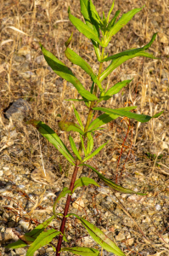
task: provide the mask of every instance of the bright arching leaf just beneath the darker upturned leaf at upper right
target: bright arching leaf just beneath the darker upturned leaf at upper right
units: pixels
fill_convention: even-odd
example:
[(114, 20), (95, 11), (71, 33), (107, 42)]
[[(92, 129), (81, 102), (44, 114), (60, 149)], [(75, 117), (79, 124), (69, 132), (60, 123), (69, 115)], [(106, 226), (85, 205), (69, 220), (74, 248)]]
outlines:
[(116, 67), (119, 67), (125, 61), (138, 56), (148, 57), (151, 59), (158, 59), (154, 55), (151, 55), (146, 51), (140, 51), (134, 55), (125, 55), (125, 56), (119, 57), (118, 59), (111, 61), (110, 65), (101, 74), (99, 81), (102, 82), (113, 70), (115, 70)]

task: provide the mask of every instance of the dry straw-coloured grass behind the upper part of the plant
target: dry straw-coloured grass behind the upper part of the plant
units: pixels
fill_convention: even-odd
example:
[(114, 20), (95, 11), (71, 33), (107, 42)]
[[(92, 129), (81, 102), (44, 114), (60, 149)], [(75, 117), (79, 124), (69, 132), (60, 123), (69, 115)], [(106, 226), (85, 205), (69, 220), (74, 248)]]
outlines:
[[(102, 10), (105, 14), (108, 13), (110, 1), (99, 0), (93, 1), (93, 3), (96, 4), (100, 15)], [(143, 11), (134, 16), (128, 25), (115, 35), (107, 52), (112, 55), (132, 47), (141, 47), (149, 42), (154, 32), (159, 32), (149, 52), (160, 57), (161, 60), (139, 57), (116, 68), (104, 86), (108, 84), (110, 87), (121, 80), (134, 79), (127, 88), (123, 89), (122, 94), (119, 93), (105, 106), (107, 108), (122, 108), (136, 105), (138, 106), (137, 113), (154, 115), (164, 110), (164, 114), (159, 119), (151, 119), (148, 124), (140, 125), (131, 120), (132, 130), (128, 134), (126, 119), (117, 119), (107, 125), (105, 131), (96, 134), (96, 146), (108, 138), (110, 138), (110, 144), (104, 152), (99, 154), (97, 159), (94, 159), (94, 162), (103, 171), (108, 164), (109, 172), (114, 179), (118, 173), (119, 182), (122, 182), (122, 178), (126, 177), (124, 164), (127, 168), (131, 162), (133, 163), (139, 158), (144, 168), (139, 166), (138, 169), (149, 177), (149, 182), (153, 183), (152, 174), (163, 172), (160, 169), (156, 170), (155, 161), (162, 154), (163, 162), (161, 164), (166, 165), (169, 156), (168, 0), (118, 0), (115, 1), (115, 10), (121, 9), (122, 14), (130, 9), (140, 8), (144, 4)], [(70, 37), (71, 32), (74, 32), (70, 47), (81, 55), (96, 72), (98, 70), (99, 63), (96, 61), (90, 42), (68, 20), (67, 9), (69, 6), (72, 15), (79, 18), (79, 1), (23, 0), (19, 2), (6, 0), (2, 1), (0, 7), (0, 122), (2, 127), (5, 127), (6, 131), (10, 131), (11, 126), (8, 119), (4, 118), (3, 113), (11, 102), (24, 98), (30, 102), (32, 108), (30, 115), (25, 120), (34, 118), (47, 123), (60, 134), (68, 147), (66, 134), (59, 131), (58, 120), (60, 115), (63, 117), (65, 114), (68, 119), (75, 119), (71, 102), (65, 102), (65, 99), (76, 98), (78, 95), (70, 84), (62, 81), (60, 83), (59, 77), (48, 68), (42, 57), (38, 41), (56, 55), (59, 60), (64, 61), (65, 65), (69, 66), (76, 77), (82, 81), (82, 84), (87, 89), (89, 88), (91, 84), (89, 77), (82, 72), (80, 67), (70, 64), (64, 55), (64, 43)], [(82, 113), (82, 121), (85, 123), (87, 108), (76, 102), (74, 105), (79, 113)], [(42, 137), (39, 139), (33, 128), (25, 127), (19, 123), (14, 123), (14, 125), (17, 132), (20, 132), (20, 141), (7, 143), (13, 140), (7, 137), (5, 141), (7, 147), (4, 147), (4, 142), (1, 144), (2, 157), (7, 154), (5, 151), (7, 150), (13, 165), (28, 166), (33, 169), (37, 162), (42, 165), (42, 156), (46, 170), (47, 166), (54, 167), (54, 171), (59, 175), (60, 164), (63, 171), (67, 172), (69, 168), (65, 159), (55, 152), (45, 139)], [(3, 133), (1, 139), (3, 139)], [(75, 140), (76, 143), (79, 142), (78, 137), (75, 137)], [(18, 148), (18, 152), (22, 151), (21, 156), (17, 154), (16, 148)], [(150, 168), (146, 166), (145, 153), (155, 154), (155, 159), (152, 162), (148, 160)], [(127, 160), (125, 161), (125, 159)], [(1, 161), (5, 163), (5, 158), (2, 158)], [(135, 162), (134, 165), (138, 166), (139, 163)], [(166, 173), (163, 172), (162, 177), (167, 179), (169, 172), (167, 169), (165, 170)], [(166, 255), (162, 253), (161, 251), (161, 256)]]

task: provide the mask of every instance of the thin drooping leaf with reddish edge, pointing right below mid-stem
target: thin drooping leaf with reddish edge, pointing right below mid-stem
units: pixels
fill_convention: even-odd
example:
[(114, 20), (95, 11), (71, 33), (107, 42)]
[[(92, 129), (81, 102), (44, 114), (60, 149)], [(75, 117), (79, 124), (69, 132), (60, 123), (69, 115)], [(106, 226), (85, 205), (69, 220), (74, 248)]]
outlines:
[(96, 172), (99, 176), (99, 178), (101, 180), (104, 181), (105, 184), (107, 184), (108, 186), (110, 186), (111, 189), (115, 189), (116, 191), (119, 191), (121, 193), (125, 193), (125, 194), (137, 194), (137, 195), (146, 195), (146, 194), (143, 194), (143, 193), (139, 193), (139, 192), (135, 192), (135, 191), (132, 191), (131, 189), (125, 189), (117, 184), (115, 184), (114, 182), (112, 182), (109, 178), (107, 177), (104, 177), (104, 175), (102, 175), (100, 172), (98, 172), (95, 168), (93, 168), (93, 166), (89, 166), (89, 165), (83, 165), (83, 166), (87, 166), (89, 167), (90, 169), (92, 169), (94, 172)]

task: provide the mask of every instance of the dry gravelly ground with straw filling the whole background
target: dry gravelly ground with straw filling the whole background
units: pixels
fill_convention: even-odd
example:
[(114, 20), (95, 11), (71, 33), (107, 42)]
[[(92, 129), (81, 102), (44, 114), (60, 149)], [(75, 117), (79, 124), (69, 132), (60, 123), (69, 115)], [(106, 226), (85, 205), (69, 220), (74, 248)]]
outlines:
[[(110, 9), (110, 2), (93, 1), (101, 15)], [(149, 52), (160, 60), (138, 57), (115, 69), (106, 81), (115, 84), (132, 79), (127, 88), (104, 105), (107, 108), (138, 106), (137, 113), (164, 113), (149, 123), (138, 124), (116, 119), (95, 134), (95, 148), (110, 143), (88, 164), (127, 189), (147, 193), (146, 196), (126, 195), (113, 191), (87, 167), (78, 177), (92, 177), (100, 187), (76, 189), (70, 212), (87, 218), (121, 247), (126, 254), (142, 256), (169, 255), (169, 29), (168, 0), (147, 1), (145, 8), (121, 29), (107, 49), (109, 55), (147, 44), (154, 32), (159, 32)], [(115, 11), (121, 14), (140, 8), (144, 1), (115, 1)], [(69, 66), (88, 89), (90, 79), (79, 67), (70, 65), (64, 55), (65, 41), (74, 32), (71, 49), (95, 69), (92, 46), (70, 24), (67, 9), (79, 18), (79, 1), (9, 1), (1, 6), (0, 44), (0, 248), (2, 255), (25, 255), (27, 247), (8, 249), (25, 231), (32, 230), (53, 214), (53, 203), (59, 191), (69, 187), (73, 169), (64, 157), (47, 143), (35, 128), (25, 125), (29, 119), (40, 119), (56, 131), (70, 148), (68, 134), (59, 131), (58, 121), (67, 115), (75, 120), (71, 102), (76, 97), (70, 83), (52, 72), (43, 58), (38, 41)], [(9, 27), (10, 26), (10, 27)], [(11, 28), (13, 26), (13, 29)], [(14, 30), (15, 28), (27, 35)], [(85, 123), (87, 108), (74, 104)], [(74, 137), (79, 143), (77, 135)], [(122, 154), (121, 154), (122, 153)], [(43, 164), (42, 164), (43, 163)], [(47, 172), (44, 177), (43, 167)], [(57, 212), (65, 208), (65, 198), (59, 201)], [(61, 218), (53, 227), (59, 230)], [(94, 247), (101, 251), (87, 231), (77, 221), (67, 221), (65, 247)], [(53, 241), (55, 244), (57, 240)], [(42, 247), (35, 255), (54, 255), (51, 247)], [(62, 253), (70, 255), (70, 253)], [(72, 254), (71, 254), (72, 255)], [(102, 255), (113, 253), (102, 252)], [(128, 255), (128, 254), (127, 254)]]

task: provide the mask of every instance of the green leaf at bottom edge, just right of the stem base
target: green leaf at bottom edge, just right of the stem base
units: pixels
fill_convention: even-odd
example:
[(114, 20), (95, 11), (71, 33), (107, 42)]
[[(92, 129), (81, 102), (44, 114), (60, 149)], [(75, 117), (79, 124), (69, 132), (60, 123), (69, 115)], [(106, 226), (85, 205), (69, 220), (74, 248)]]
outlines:
[(61, 252), (68, 251), (76, 255), (82, 256), (99, 256), (99, 251), (88, 247), (65, 247), (61, 249)]

